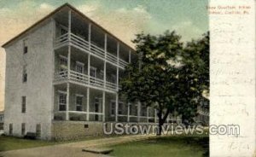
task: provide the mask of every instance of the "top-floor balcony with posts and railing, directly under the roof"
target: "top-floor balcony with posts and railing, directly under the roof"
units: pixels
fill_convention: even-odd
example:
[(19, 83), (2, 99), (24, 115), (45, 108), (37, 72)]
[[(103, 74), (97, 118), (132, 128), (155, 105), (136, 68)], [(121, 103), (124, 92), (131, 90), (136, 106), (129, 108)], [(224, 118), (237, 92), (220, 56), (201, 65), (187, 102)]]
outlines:
[(121, 69), (137, 61), (130, 46), (83, 15), (63, 9), (55, 14), (54, 20), (55, 49), (71, 45)]

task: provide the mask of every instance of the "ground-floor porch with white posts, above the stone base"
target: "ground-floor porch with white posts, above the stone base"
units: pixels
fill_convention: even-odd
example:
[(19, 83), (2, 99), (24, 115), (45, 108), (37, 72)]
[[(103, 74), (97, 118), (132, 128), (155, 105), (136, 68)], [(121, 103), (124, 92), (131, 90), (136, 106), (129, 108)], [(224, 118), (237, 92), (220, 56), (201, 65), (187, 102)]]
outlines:
[[(53, 119), (56, 121), (158, 122), (154, 108), (128, 103), (116, 93), (78, 84), (55, 85), (54, 102)], [(170, 114), (166, 122), (176, 120)]]

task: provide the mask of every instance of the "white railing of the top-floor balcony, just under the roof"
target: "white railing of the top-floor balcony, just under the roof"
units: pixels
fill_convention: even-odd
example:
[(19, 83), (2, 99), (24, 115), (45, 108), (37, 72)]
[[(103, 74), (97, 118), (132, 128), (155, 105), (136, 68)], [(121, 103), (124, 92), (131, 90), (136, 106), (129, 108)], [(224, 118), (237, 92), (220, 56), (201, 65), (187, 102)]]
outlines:
[[(70, 41), (68, 40), (68, 33), (61, 35), (55, 39), (55, 48), (60, 48), (61, 46), (65, 46), (68, 43), (72, 44), (73, 46), (77, 47), (78, 49), (82, 49), (91, 55), (95, 55), (100, 59), (104, 59), (105, 57), (105, 50), (96, 46), (96, 44), (89, 43), (88, 41), (84, 40), (84, 38), (80, 38), (79, 36), (70, 33)], [(117, 56), (106, 52), (106, 61), (116, 66), (119, 65), (121, 68), (125, 68), (128, 65), (127, 61), (117, 58)], [(118, 63), (119, 61), (119, 63)]]

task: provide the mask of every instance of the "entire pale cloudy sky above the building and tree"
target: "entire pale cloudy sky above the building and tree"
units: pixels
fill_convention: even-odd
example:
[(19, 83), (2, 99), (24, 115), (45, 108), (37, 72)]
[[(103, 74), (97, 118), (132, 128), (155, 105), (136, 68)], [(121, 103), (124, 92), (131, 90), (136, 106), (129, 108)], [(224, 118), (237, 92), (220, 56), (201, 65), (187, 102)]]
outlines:
[[(0, 44), (70, 3), (126, 44), (139, 32), (175, 30), (187, 42), (208, 31), (207, 0), (0, 0)], [(4, 107), (5, 52), (0, 48), (0, 111)]]

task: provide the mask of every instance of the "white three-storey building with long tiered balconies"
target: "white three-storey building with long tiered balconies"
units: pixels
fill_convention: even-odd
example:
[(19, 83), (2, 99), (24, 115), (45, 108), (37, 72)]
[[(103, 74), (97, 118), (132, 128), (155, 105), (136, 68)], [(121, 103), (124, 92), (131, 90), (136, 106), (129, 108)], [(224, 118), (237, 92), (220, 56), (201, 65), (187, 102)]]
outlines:
[(102, 122), (157, 121), (154, 108), (118, 95), (134, 49), (68, 3), (3, 48), (7, 135), (84, 137), (101, 134)]

